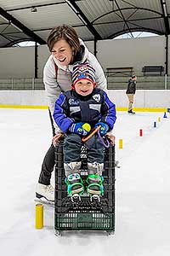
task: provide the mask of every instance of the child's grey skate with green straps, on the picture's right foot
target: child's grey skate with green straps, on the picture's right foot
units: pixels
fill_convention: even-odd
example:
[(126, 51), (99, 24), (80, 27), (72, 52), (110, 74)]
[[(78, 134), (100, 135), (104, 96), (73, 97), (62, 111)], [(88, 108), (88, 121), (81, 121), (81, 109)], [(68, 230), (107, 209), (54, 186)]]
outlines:
[(104, 194), (103, 186), (104, 177), (98, 174), (89, 174), (87, 178), (88, 183), (88, 195), (90, 201), (99, 202), (100, 196)]

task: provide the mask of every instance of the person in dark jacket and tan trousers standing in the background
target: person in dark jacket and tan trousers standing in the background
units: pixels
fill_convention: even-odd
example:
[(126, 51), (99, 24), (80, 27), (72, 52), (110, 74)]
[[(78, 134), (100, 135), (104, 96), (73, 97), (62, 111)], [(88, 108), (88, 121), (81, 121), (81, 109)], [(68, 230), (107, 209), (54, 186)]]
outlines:
[(128, 111), (127, 113), (134, 113), (133, 112), (133, 98), (134, 94), (136, 92), (136, 80), (137, 77), (133, 75), (129, 80), (128, 80), (128, 85), (127, 85), (127, 97), (128, 97)]

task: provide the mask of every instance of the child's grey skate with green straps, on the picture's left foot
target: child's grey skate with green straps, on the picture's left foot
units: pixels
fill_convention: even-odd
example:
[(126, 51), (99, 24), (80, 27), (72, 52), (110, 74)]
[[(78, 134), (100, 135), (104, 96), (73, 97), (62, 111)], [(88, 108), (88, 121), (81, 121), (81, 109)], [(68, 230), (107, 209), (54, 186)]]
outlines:
[(79, 173), (72, 173), (65, 178), (65, 183), (67, 185), (67, 193), (71, 196), (72, 202), (81, 201), (81, 195), (84, 192), (84, 186), (82, 184), (82, 177)]

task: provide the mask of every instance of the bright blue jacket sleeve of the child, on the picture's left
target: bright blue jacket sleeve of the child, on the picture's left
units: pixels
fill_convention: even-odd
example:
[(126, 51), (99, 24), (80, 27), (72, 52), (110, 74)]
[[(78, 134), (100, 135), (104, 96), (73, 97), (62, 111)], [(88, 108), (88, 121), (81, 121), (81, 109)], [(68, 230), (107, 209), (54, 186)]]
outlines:
[(63, 93), (59, 95), (59, 98), (55, 102), (53, 116), (56, 124), (64, 132), (66, 132), (73, 123), (73, 120), (69, 118), (69, 106)]

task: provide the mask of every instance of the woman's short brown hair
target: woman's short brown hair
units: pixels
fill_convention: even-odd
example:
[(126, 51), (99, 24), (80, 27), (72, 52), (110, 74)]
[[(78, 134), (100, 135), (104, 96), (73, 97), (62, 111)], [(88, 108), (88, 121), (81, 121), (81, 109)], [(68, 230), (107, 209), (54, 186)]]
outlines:
[(74, 48), (75, 54), (77, 54), (77, 51), (80, 49), (80, 42), (77, 32), (72, 26), (55, 26), (48, 36), (48, 49), (52, 51), (54, 44), (60, 39), (65, 39)]

